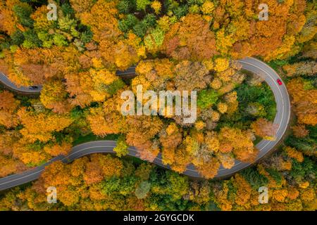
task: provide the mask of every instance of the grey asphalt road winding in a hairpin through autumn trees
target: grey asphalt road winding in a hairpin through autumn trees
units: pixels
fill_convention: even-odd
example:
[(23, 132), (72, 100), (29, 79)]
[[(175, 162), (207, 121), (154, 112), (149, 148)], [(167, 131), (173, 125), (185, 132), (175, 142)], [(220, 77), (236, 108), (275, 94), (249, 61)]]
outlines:
[[(277, 113), (275, 115), (274, 123), (278, 124), (278, 131), (275, 136), (275, 141), (262, 140), (256, 145), (256, 148), (259, 149), (259, 155), (256, 158), (257, 161), (263, 158), (263, 156), (268, 154), (271, 150), (273, 150), (273, 148), (278, 144), (280, 139), (282, 139), (282, 136), (285, 134), (288, 123), (290, 122), (290, 97), (287, 93), (285, 84), (278, 84), (277, 79), (280, 79), (278, 74), (268, 65), (266, 65), (266, 63), (263, 63), (256, 58), (244, 58), (243, 60), (238, 60), (238, 62), (241, 63), (242, 69), (253, 72), (254, 74), (259, 75), (260, 77), (265, 79), (265, 82), (271, 87), (271, 90), (273, 91), (277, 105)], [(135, 74), (135, 67), (129, 68), (126, 71), (117, 72), (117, 75), (119, 76), (133, 74)], [(39, 88), (36, 90), (30, 90), (28, 89), (28, 87), (17, 87), (12, 82), (10, 82), (10, 80), (5, 75), (1, 73), (0, 82), (2, 82), (5, 86), (8, 86), (8, 88), (13, 91), (27, 94), (37, 94), (42, 89), (42, 86), (39, 86)], [(92, 153), (114, 153), (113, 148), (115, 146), (116, 141), (92, 141), (74, 146), (67, 156), (59, 155), (42, 166), (35, 167), (20, 174), (13, 174), (1, 178), (0, 191), (12, 188), (14, 186), (19, 186), (21, 184), (26, 184), (30, 181), (38, 179), (44, 168), (52, 162), (55, 162), (56, 160), (61, 160), (62, 162), (68, 163), (84, 155), (89, 155)], [(128, 150), (128, 155), (137, 157), (137, 150), (134, 147), (130, 147), (128, 148)], [(170, 167), (163, 165), (161, 160), (161, 153), (156, 157), (153, 163), (161, 167), (170, 169)], [(240, 162), (239, 160), (236, 160), (235, 165), (231, 169), (225, 169), (221, 166), (218, 170), (216, 178), (229, 176), (231, 174), (234, 174), (235, 172), (240, 171), (241, 169), (248, 167), (249, 165), (250, 163)], [(189, 165), (187, 167), (187, 170), (183, 172), (183, 174), (195, 178), (202, 177), (194, 168), (194, 165)]]

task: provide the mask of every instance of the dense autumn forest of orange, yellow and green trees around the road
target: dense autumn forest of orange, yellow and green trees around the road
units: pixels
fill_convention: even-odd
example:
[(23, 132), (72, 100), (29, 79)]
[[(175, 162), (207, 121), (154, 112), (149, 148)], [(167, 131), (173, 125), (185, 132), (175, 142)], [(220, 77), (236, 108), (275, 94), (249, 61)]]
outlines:
[[(47, 20), (48, 3), (57, 20)], [(0, 0), (0, 71), (17, 86), (44, 85), (39, 96), (0, 87), (0, 177), (76, 143), (118, 139), (116, 156), (54, 162), (4, 193), (0, 210), (316, 210), (316, 17), (304, 0)], [(220, 165), (254, 162), (256, 143), (275, 138), (274, 96), (235, 63), (246, 56), (282, 77), (292, 122), (273, 155), (215, 181)], [(116, 76), (132, 65), (135, 78)], [(197, 121), (123, 116), (120, 94), (139, 84), (197, 91)], [(125, 157), (128, 146), (149, 162), (162, 153), (173, 171)], [(180, 174), (190, 163), (206, 180)], [(48, 186), (57, 205), (46, 203)], [(260, 186), (268, 204), (259, 204)]]

